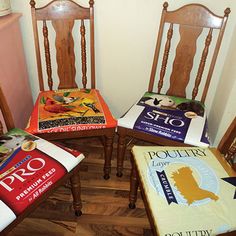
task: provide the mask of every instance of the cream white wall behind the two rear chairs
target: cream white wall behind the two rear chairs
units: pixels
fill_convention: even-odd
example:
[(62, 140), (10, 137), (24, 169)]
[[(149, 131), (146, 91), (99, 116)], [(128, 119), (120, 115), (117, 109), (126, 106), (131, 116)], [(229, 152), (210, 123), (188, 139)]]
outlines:
[[(49, 1), (36, 0), (36, 6), (43, 6)], [(75, 0), (75, 2), (88, 6), (88, 0)], [(231, 8), (232, 13), (206, 100), (210, 135), (216, 145), (236, 113), (233, 102), (236, 100), (236, 67), (233, 66), (236, 59), (236, 48), (233, 45), (236, 2), (231, 0), (217, 1), (217, 4), (213, 0), (168, 2), (170, 10), (197, 2), (206, 5), (217, 15), (223, 15), (226, 7)], [(32, 94), (35, 99), (38, 93), (38, 80), (29, 0), (11, 0), (11, 5), (13, 11), (23, 14), (21, 29)], [(97, 87), (117, 118), (147, 89), (162, 5), (163, 1), (160, 0), (95, 0)]]

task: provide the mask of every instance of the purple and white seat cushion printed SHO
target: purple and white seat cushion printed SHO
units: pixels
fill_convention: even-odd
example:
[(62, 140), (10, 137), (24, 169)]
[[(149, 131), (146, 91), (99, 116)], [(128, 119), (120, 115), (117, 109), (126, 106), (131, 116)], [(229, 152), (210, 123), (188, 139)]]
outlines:
[(195, 100), (146, 92), (118, 120), (118, 126), (194, 146), (209, 146), (205, 107)]

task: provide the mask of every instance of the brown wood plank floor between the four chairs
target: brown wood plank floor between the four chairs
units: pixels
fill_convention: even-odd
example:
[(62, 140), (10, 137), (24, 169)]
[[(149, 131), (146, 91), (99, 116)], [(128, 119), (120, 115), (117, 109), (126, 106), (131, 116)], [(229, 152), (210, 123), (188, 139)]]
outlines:
[(60, 187), (34, 213), (17, 225), (9, 235), (146, 235), (151, 236), (143, 201), (139, 195), (136, 209), (128, 208), (130, 152), (126, 154), (122, 178), (116, 177), (116, 143), (112, 173), (103, 179), (103, 147), (99, 139), (67, 142), (86, 155), (81, 163), (83, 215), (72, 210), (69, 186)]

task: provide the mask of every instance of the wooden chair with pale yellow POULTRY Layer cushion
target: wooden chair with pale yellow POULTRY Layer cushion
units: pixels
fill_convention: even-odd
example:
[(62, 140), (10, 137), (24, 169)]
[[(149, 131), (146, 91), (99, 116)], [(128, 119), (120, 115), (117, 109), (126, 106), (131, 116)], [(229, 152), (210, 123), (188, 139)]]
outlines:
[(134, 146), (132, 153), (129, 207), (140, 186), (155, 235), (235, 235), (236, 118), (218, 149)]

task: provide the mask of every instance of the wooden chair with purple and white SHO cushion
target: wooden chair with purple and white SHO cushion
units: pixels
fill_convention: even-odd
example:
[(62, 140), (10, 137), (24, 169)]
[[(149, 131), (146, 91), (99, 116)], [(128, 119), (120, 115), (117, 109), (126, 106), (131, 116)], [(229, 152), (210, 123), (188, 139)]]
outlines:
[(221, 17), (200, 4), (167, 8), (165, 2), (148, 91), (118, 120), (117, 176), (128, 137), (158, 145), (209, 145), (204, 102), (230, 9)]

